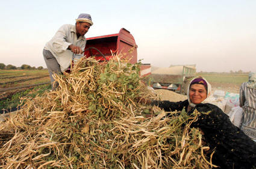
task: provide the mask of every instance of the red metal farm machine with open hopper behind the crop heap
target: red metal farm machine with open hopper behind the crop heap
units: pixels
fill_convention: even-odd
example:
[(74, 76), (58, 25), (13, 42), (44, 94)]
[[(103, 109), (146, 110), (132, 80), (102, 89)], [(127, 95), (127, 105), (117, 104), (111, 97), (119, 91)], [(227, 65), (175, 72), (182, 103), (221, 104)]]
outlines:
[[(93, 49), (96, 48), (96, 49)], [(84, 55), (86, 57), (95, 56), (97, 60), (110, 60), (113, 54), (122, 52), (123, 58), (129, 60), (131, 64), (137, 63), (137, 48), (133, 35), (125, 28), (120, 29), (118, 34), (102, 35), (98, 37), (87, 38)], [(102, 56), (104, 55), (105, 58)], [(140, 76), (151, 74), (151, 65), (142, 64), (140, 67)]]

